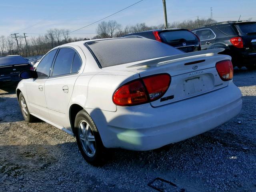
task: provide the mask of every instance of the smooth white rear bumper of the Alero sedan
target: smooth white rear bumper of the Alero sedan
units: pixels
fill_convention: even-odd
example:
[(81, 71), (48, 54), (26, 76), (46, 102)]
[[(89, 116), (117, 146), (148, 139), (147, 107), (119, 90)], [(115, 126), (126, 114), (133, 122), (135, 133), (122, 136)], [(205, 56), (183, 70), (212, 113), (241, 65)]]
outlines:
[(223, 124), (242, 108), (232, 83), (219, 90), (153, 108), (117, 107), (116, 112), (86, 109), (107, 148), (152, 150), (196, 136)]

